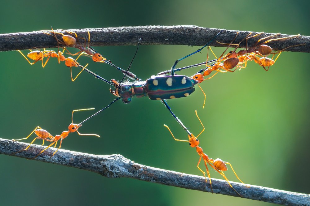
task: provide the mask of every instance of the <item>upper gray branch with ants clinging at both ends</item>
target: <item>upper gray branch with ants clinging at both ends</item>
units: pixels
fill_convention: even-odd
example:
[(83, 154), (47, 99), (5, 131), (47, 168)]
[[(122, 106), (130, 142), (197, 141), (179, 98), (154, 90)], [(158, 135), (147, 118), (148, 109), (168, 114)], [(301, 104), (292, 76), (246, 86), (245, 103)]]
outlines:
[[(56, 32), (66, 32), (55, 30)], [(86, 29), (68, 29), (67, 31), (76, 32), (79, 37), (88, 40), (88, 33), (91, 34), (91, 46), (107, 46), (107, 45), (136, 45), (138, 39), (141, 38), (140, 44), (144, 45), (205, 45), (211, 41), (221, 29), (203, 28), (193, 25), (182, 26), (136, 26), (136, 27), (120, 27), (120, 28), (86, 28)], [(230, 43), (239, 32), (234, 43), (240, 42), (246, 37), (249, 31), (224, 30), (216, 40), (222, 43)], [(258, 32), (252, 32), (257, 34)], [(249, 46), (254, 45), (259, 38), (270, 36), (273, 33), (263, 33), (258, 37), (249, 39)], [(274, 38), (280, 38), (290, 35), (277, 35)], [(82, 41), (82, 42), (81, 42)], [(81, 40), (80, 43), (84, 44)], [(288, 38), (279, 41), (271, 41), (268, 43), (274, 50), (281, 50), (288, 46), (306, 44), (304, 46), (291, 47), (287, 51), (310, 52), (310, 36), (300, 36)], [(213, 41), (211, 46), (224, 46)], [(86, 45), (87, 46), (87, 45)], [(0, 51), (16, 50), (16, 49), (35, 49), (35, 48), (51, 48), (57, 47), (55, 38), (45, 34), (43, 31), (36, 32), (20, 32), (11, 34), (0, 34)], [(242, 42), (241, 48), (246, 47), (246, 42)]]

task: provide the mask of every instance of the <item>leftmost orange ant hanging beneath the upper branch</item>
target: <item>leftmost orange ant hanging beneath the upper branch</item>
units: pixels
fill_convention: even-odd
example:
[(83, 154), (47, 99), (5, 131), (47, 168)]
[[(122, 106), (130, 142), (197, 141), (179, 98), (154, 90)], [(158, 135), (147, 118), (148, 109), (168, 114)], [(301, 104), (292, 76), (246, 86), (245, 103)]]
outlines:
[[(71, 57), (68, 57), (68, 58), (65, 58), (64, 57), (64, 50), (61, 52), (61, 51), (58, 51), (58, 53), (56, 53), (55, 51), (53, 50), (43, 50), (43, 51), (40, 51), (40, 50), (35, 50), (35, 51), (32, 51), (31, 49), (29, 49), (30, 52), (27, 54), (27, 57), (32, 59), (32, 60), (35, 60), (34, 62), (30, 62), (29, 59), (20, 51), (20, 50), (17, 50), (20, 52), (21, 55), (23, 55), (23, 57), (27, 60), (27, 62), (31, 65), (35, 64), (36, 62), (38, 61), (42, 61), (42, 67), (44, 68), (45, 65), (47, 64), (48, 60), (50, 59), (50, 57), (53, 57), (53, 58), (58, 58), (58, 62), (60, 63), (60, 61), (64, 61), (65, 65), (67, 67), (70, 67), (70, 72), (71, 72), (71, 80), (74, 82), (74, 80), (81, 74), (81, 72), (87, 67), (88, 64), (85, 65), (85, 67), (82, 67), (76, 60), (77, 59), (73, 59)], [(47, 60), (45, 61), (45, 63), (43, 62), (43, 58), (47, 57)], [(78, 75), (73, 79), (72, 77), (72, 67), (80, 67), (82, 68), (82, 70), (78, 73)]]

